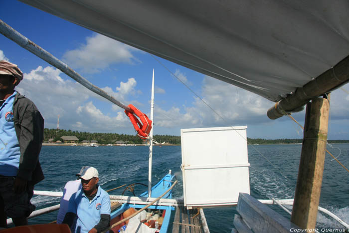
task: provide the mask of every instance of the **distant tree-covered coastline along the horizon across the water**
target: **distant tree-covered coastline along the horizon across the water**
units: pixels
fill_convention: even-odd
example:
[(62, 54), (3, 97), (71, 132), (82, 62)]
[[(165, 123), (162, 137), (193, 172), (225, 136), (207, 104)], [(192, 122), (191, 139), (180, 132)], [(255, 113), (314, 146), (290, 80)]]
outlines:
[[(117, 133), (90, 133), (79, 132), (64, 129), (44, 129), (44, 142), (61, 141), (64, 136), (75, 136), (77, 143), (82, 141), (97, 141), (99, 144), (113, 144), (117, 141), (127, 142), (129, 144), (142, 144), (143, 140), (136, 135), (117, 134)], [(180, 145), (180, 136), (173, 135), (154, 135), (154, 140), (159, 143), (166, 142), (174, 145)], [(299, 144), (303, 139), (261, 139), (247, 138), (248, 144)], [(328, 140), (329, 143), (349, 143), (349, 140)]]

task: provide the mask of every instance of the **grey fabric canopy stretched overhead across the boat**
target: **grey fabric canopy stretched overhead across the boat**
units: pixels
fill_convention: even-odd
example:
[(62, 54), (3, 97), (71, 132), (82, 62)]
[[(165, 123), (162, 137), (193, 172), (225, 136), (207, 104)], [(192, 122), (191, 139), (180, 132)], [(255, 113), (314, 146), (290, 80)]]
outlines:
[(348, 0), (21, 0), (278, 101), (349, 55)]

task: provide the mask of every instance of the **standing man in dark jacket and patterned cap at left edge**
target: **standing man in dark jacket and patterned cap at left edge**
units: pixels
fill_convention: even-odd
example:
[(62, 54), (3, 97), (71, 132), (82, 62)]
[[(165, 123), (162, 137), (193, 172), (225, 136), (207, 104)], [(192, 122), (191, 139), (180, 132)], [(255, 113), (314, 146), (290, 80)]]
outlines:
[(39, 163), (44, 120), (34, 103), (14, 87), (23, 73), (0, 60), (0, 227), (10, 217), (15, 226), (26, 225), (35, 210), (30, 203), (34, 185), (44, 176)]

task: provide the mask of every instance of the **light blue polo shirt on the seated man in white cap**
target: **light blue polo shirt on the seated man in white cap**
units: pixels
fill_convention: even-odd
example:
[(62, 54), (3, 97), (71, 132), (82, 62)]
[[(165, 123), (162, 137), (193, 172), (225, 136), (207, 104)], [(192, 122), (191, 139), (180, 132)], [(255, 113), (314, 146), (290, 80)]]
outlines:
[(96, 196), (90, 200), (83, 189), (69, 199), (68, 211), (76, 214), (76, 227), (73, 233), (88, 233), (101, 220), (101, 214), (110, 215), (110, 198), (100, 186)]

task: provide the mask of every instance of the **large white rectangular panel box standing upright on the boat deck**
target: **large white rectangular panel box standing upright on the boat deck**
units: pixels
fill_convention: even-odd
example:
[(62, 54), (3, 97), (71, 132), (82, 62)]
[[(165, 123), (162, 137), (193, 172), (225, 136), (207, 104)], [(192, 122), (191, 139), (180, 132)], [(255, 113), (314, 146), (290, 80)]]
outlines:
[(231, 206), (250, 194), (246, 129), (180, 130), (184, 206)]

